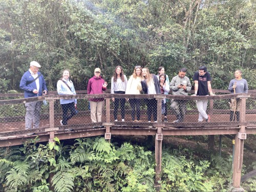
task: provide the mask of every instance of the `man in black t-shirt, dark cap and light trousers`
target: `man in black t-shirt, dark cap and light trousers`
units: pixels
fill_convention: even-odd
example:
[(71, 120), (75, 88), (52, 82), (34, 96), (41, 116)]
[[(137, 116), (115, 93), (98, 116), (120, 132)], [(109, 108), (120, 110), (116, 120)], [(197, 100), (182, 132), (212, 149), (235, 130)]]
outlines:
[[(195, 94), (192, 96), (206, 96), (208, 92), (210, 92), (210, 95), (215, 95), (211, 90), (211, 77), (206, 66), (199, 67), (199, 70), (193, 76), (193, 81), (195, 82)], [(208, 100), (197, 100), (196, 103), (199, 111), (198, 122), (202, 122), (203, 119), (205, 119), (205, 122), (210, 122), (210, 115), (206, 113)]]

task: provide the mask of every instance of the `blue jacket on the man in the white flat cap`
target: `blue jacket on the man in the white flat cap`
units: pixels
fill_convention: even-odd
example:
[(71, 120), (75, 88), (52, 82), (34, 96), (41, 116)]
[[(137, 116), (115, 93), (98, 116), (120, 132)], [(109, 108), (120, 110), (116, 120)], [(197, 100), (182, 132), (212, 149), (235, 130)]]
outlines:
[[(40, 75), (40, 72), (38, 72), (38, 76)], [(30, 71), (26, 71), (26, 73), (22, 76), (22, 80), (20, 80), (19, 88), (24, 90), (24, 97), (25, 98), (32, 98), (42, 95), (43, 90), (47, 90), (46, 87), (46, 81), (44, 79), (44, 76), (40, 76), (39, 78), (39, 91), (37, 94), (33, 93), (33, 90), (36, 89), (36, 83), (35, 81), (33, 83), (30, 83), (27, 85), (29, 81), (34, 80), (34, 78), (31, 76)], [(47, 90), (48, 91), (48, 90)]]

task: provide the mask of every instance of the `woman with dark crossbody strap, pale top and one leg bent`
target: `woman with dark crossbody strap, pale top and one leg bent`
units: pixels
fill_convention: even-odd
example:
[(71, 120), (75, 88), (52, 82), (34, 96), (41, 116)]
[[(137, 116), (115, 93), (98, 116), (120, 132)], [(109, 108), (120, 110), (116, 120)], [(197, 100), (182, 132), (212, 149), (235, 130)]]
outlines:
[[(62, 78), (57, 82), (58, 94), (76, 94), (73, 82), (69, 79), (70, 71), (63, 70)], [(76, 99), (61, 99), (60, 105), (62, 108), (62, 120), (60, 120), (60, 125), (68, 125), (68, 120), (77, 114), (76, 110)], [(70, 110), (70, 115), (68, 115), (68, 110)]]

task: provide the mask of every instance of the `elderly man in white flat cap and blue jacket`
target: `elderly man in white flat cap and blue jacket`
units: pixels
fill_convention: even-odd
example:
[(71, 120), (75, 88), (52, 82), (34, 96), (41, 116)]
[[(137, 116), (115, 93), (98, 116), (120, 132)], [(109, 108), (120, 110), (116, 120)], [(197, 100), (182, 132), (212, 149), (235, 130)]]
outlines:
[[(44, 76), (38, 71), (41, 66), (36, 61), (30, 62), (30, 68), (22, 76), (19, 87), (24, 90), (25, 98), (38, 97), (47, 94), (46, 81)], [(25, 129), (39, 128), (40, 110), (42, 102), (34, 101), (25, 104)]]

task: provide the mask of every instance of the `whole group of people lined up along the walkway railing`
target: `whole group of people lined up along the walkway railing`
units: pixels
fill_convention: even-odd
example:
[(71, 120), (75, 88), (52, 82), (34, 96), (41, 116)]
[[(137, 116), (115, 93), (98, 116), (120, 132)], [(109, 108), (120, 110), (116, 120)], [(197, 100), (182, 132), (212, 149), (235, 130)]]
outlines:
[[(24, 90), (25, 98), (38, 97), (46, 95), (48, 92), (44, 76), (38, 71), (40, 64), (36, 61), (30, 63), (30, 68), (23, 75), (20, 81), (19, 87)], [(169, 82), (168, 76), (165, 74), (164, 67), (158, 68), (158, 75), (151, 74), (149, 69), (141, 66), (135, 66), (133, 75), (126, 78), (121, 66), (116, 66), (114, 75), (111, 79), (111, 93), (112, 94), (140, 94), (143, 91), (145, 94), (169, 94), (172, 90), (174, 95), (188, 95), (191, 90), (191, 83), (188, 77), (186, 77), (186, 68), (181, 68), (177, 76), (172, 78)], [(242, 78), (242, 71), (236, 70), (234, 73), (235, 79), (232, 79), (229, 83), (228, 90), (233, 93), (247, 93), (248, 85), (247, 81)], [(195, 72), (193, 76), (195, 84), (195, 94), (191, 96), (205, 96), (215, 95), (211, 89), (211, 76), (207, 71), (206, 66), (200, 66), (199, 70)], [(88, 94), (102, 94), (106, 90), (108, 83), (101, 77), (100, 68), (95, 68), (94, 76), (89, 80), (87, 86)], [(74, 84), (70, 80), (70, 71), (63, 70), (62, 77), (57, 82), (58, 94), (70, 95), (76, 94)], [(91, 120), (93, 123), (101, 122), (102, 108), (104, 106), (104, 98), (99, 96), (90, 98)], [(121, 109), (121, 121), (125, 120), (125, 102), (129, 101), (131, 105), (131, 117), (132, 121), (140, 121), (140, 107), (141, 99), (125, 99), (124, 97), (112, 98), (114, 102), (114, 119), (118, 121), (118, 108)], [(198, 122), (210, 121), (210, 116), (207, 115), (208, 100), (197, 100), (196, 105), (199, 111)], [(60, 105), (62, 108), (62, 119), (60, 125), (68, 125), (68, 120), (78, 113), (76, 109), (76, 99), (61, 99)], [(36, 129), (39, 128), (40, 109), (42, 102), (34, 101), (25, 104), (26, 116), (25, 116), (25, 128)], [(146, 99), (147, 105), (147, 120), (151, 122), (152, 115), (153, 121), (157, 122), (157, 100), (152, 98)], [(232, 99), (230, 104), (230, 121), (234, 121), (235, 116), (239, 121), (240, 100)], [(174, 99), (171, 101), (170, 108), (174, 111), (177, 119), (174, 123), (183, 122), (186, 113), (186, 100)], [(68, 115), (68, 111), (70, 114)], [(162, 100), (162, 114), (164, 115), (164, 122), (167, 122), (167, 105), (166, 99)], [(96, 116), (97, 114), (97, 116)]]

